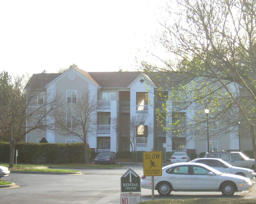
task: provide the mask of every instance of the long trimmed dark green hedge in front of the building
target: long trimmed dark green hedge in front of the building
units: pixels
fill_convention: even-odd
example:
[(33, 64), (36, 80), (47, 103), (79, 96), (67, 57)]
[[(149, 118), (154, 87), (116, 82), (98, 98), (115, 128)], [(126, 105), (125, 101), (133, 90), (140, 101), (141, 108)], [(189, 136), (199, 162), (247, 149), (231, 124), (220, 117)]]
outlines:
[[(28, 163), (83, 163), (84, 148), (82, 143), (20, 143), (16, 145), (18, 150), (17, 162)], [(9, 162), (9, 143), (0, 144), (0, 161)], [(88, 145), (88, 160), (91, 157), (91, 149)], [(15, 159), (15, 158), (14, 158)]]

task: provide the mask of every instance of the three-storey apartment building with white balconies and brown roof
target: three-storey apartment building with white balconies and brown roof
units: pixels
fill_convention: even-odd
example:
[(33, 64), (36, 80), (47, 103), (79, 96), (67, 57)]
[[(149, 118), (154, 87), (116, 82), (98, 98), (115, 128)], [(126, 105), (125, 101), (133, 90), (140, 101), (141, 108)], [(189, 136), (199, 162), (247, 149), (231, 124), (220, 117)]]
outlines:
[[(32, 83), (33, 82), (33, 83)], [(197, 140), (197, 132), (188, 130), (177, 134), (165, 131), (156, 122), (156, 108), (161, 109), (166, 100), (157, 93), (158, 87), (150, 76), (141, 72), (86, 72), (69, 68), (62, 74), (34, 74), (27, 89), (38, 89), (38, 104), (43, 103), (46, 95), (61, 95), (68, 104), (75, 104), (86, 90), (97, 96), (96, 128), (88, 129), (87, 142), (91, 149), (100, 151), (183, 151), (189, 153), (206, 152), (206, 133)], [(163, 95), (169, 96), (173, 90), (165, 89)], [(166, 118), (166, 124), (182, 120), (186, 122), (195, 116), (193, 108), (179, 109), (177, 103), (173, 117)], [(46, 121), (53, 120), (46, 118)], [(67, 126), (72, 121), (67, 119)], [(210, 141), (211, 150), (239, 149), (239, 138), (227, 133), (225, 137)], [(40, 142), (42, 138), (50, 143), (82, 142), (74, 135), (64, 136), (53, 129), (31, 131), (26, 142)], [(224, 141), (224, 142), (223, 142)], [(223, 146), (224, 145), (224, 146)]]

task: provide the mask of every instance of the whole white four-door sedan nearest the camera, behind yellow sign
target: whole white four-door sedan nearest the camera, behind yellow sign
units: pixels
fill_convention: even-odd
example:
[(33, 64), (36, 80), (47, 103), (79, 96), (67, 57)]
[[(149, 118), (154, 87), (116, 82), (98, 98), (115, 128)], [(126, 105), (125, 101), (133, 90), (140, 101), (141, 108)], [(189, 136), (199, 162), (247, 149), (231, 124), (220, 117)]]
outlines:
[[(141, 176), (141, 188), (152, 189), (151, 177)], [(221, 173), (205, 164), (182, 162), (162, 168), (162, 176), (154, 177), (154, 189), (160, 195), (171, 191), (221, 191), (230, 196), (252, 186), (249, 178)]]

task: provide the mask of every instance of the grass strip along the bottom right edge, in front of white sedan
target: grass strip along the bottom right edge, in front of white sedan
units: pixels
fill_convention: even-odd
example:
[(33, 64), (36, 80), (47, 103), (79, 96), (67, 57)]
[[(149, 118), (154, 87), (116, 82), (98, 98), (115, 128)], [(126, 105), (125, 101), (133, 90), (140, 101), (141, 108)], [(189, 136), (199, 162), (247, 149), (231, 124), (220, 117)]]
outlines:
[(256, 200), (251, 199), (231, 199), (231, 198), (218, 198), (218, 199), (161, 199), (161, 200), (148, 200), (140, 202), (139, 204), (256, 204)]

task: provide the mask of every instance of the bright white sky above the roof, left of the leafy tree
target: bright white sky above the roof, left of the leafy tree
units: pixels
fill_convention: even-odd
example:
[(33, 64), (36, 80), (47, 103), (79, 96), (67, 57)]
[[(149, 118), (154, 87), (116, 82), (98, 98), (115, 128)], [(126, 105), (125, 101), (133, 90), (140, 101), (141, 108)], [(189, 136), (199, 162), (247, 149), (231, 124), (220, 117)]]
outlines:
[(0, 71), (136, 71), (167, 0), (0, 0)]

